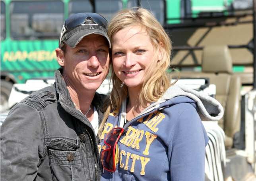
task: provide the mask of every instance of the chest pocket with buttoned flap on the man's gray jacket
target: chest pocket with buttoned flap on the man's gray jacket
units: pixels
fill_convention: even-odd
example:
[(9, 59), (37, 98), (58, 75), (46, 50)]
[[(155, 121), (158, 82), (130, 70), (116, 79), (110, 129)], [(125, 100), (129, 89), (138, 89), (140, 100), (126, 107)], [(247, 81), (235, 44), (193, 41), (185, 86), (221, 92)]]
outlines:
[(77, 144), (64, 139), (54, 139), (47, 145), (52, 179), (54, 181), (84, 179), (79, 145), (79, 139)]

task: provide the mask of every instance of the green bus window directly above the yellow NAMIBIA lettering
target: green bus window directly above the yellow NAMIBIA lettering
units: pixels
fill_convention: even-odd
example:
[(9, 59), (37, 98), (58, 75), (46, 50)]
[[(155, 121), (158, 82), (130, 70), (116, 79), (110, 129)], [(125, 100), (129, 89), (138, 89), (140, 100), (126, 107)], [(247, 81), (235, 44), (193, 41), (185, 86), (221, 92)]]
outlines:
[(13, 39), (58, 39), (63, 21), (62, 1), (13, 1), (10, 4)]

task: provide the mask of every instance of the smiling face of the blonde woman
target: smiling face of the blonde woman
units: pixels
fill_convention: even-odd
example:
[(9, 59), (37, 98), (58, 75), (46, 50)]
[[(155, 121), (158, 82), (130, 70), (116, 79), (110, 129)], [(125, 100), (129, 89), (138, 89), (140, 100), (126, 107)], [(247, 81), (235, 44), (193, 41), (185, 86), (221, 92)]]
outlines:
[(141, 89), (155, 54), (149, 35), (140, 26), (127, 27), (113, 35), (111, 44), (116, 76), (128, 89)]

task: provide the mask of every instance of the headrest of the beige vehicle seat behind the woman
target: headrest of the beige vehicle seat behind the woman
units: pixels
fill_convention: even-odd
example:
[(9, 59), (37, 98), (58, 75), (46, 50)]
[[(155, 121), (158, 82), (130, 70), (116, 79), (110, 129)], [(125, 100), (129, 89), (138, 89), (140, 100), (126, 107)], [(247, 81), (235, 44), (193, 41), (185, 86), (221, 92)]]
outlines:
[(233, 73), (232, 58), (227, 45), (204, 46), (202, 72)]

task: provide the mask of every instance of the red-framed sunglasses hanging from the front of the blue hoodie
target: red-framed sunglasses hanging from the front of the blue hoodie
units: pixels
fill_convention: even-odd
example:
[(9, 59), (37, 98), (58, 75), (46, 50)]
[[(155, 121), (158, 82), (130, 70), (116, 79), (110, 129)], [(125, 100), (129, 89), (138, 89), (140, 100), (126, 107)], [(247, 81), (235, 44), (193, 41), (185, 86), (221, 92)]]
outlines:
[(124, 129), (121, 127), (113, 128), (104, 139), (108, 148), (101, 152), (101, 163), (104, 169), (114, 172), (116, 170), (115, 150)]

